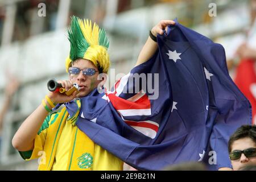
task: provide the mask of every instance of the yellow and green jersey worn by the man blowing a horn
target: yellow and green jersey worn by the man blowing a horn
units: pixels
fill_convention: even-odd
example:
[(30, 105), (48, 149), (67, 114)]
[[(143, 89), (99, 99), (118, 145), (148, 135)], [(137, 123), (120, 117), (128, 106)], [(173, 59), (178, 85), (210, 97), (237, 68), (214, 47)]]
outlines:
[[(23, 159), (42, 158), (41, 151), (46, 151), (44, 166), (39, 166), (41, 170), (123, 169), (122, 160), (90, 140), (77, 126), (68, 122), (68, 117), (65, 118), (64, 115), (67, 116), (67, 113), (62, 109), (47, 116), (35, 138), (34, 150), (20, 152)], [(63, 121), (57, 119), (60, 116)]]

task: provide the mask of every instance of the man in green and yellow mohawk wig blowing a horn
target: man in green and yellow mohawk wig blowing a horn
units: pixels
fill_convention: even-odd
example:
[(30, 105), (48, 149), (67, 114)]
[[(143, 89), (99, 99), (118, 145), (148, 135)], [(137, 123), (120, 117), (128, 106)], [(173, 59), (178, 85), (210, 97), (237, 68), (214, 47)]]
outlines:
[[(162, 20), (151, 32), (154, 36), (163, 34), (167, 25), (174, 23)], [(71, 96), (49, 92), (19, 127), (13, 146), (25, 160), (40, 158), (39, 170), (122, 170), (122, 160), (98, 146), (76, 126), (80, 108), (84, 106), (81, 98), (97, 88), (102, 89), (106, 82), (105, 77), (97, 80), (101, 73), (108, 73), (110, 66), (106, 32), (96, 23), (92, 26), (89, 20), (73, 16), (68, 40), (71, 48), (65, 67), (69, 80), (58, 82), (65, 90), (76, 83), (79, 92)], [(148, 60), (156, 48), (156, 42), (149, 37), (136, 65)], [(60, 107), (63, 103), (64, 107)]]

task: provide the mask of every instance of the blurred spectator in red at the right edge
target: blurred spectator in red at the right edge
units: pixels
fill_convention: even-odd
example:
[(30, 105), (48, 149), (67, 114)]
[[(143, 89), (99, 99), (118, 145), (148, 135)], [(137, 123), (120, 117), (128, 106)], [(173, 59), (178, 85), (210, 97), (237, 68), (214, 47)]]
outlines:
[(252, 106), (253, 123), (256, 123), (256, 0), (250, 1), (251, 27), (247, 40), (237, 49), (240, 64), (237, 67), (237, 75), (234, 81)]

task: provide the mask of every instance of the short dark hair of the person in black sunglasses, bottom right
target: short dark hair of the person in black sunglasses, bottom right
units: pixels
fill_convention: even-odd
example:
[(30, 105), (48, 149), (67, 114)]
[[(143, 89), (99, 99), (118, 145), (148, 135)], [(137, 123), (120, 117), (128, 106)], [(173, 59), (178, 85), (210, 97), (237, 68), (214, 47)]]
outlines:
[(256, 126), (242, 125), (238, 128), (229, 138), (229, 153), (231, 152), (233, 142), (241, 138), (250, 138), (256, 144)]

